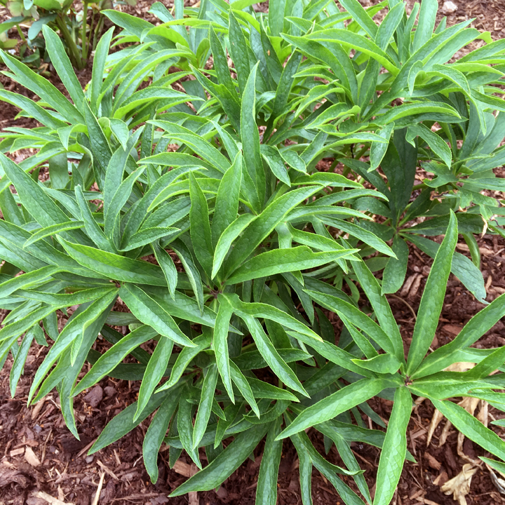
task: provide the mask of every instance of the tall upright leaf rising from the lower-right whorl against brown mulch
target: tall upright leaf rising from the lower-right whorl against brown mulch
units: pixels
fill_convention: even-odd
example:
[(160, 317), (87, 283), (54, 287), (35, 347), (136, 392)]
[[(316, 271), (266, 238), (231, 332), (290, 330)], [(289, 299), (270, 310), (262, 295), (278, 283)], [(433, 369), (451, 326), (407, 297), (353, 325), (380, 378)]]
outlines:
[(438, 326), (438, 317), (440, 316), (440, 310), (444, 301), (445, 288), (450, 274), (452, 255), (454, 254), (456, 243), (457, 220), (451, 211), (445, 238), (433, 261), (421, 303), (419, 304), (419, 310), (417, 311), (417, 320), (407, 360), (406, 373), (408, 376), (411, 376), (421, 364), (433, 341)]

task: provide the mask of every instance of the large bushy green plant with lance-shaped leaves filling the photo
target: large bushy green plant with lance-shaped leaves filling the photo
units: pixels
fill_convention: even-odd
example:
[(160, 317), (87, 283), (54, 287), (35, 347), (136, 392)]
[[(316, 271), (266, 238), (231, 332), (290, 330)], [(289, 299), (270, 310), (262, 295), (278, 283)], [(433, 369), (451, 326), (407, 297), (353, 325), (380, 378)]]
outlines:
[[(478, 267), (454, 246), (458, 229), (472, 244), (472, 234), (483, 230), (481, 215), (497, 208), (479, 200), (475, 184), (500, 182), (490, 170), (501, 156), (501, 115), (492, 112), (502, 102), (487, 85), (501, 76), (505, 46), (488, 43), (470, 53), (471, 66), (454, 68), (443, 63), (480, 36), (476, 30), (442, 25), (431, 38), (424, 29), (412, 32), (414, 19), (396, 2), (377, 28), (375, 8), (341, 4), (346, 12), (324, 2), (297, 2), (290, 11), (286, 4), (283, 11), (271, 2), (267, 16), (241, 2), (208, 2), (198, 11), (182, 11), (179, 3), (173, 14), (154, 4), (164, 21), (158, 27), (109, 11), (123, 28), (119, 40), (132, 45), (108, 55), (112, 29), (102, 37), (86, 92), (62, 42), (44, 27), (73, 103), (2, 53), (12, 79), (41, 102), (6, 90), (0, 98), (43, 125), (8, 128), (0, 144), (4, 151), (38, 150), (20, 165), (0, 156), (0, 298), (11, 310), (0, 330), (0, 358), (15, 356), (11, 390), (32, 341), (46, 342), (43, 330), (54, 342), (29, 402), (57, 387), (76, 436), (76, 394), (105, 375), (142, 379), (138, 401), (107, 425), (91, 451), (156, 412), (144, 440), (153, 481), (163, 440), (170, 464), (184, 449), (201, 467), (200, 447), (210, 463), (175, 494), (217, 487), (267, 434), (258, 503), (276, 501), (281, 440), (289, 436), (304, 503), (311, 502), (312, 466), (346, 503), (371, 501), (349, 449), (361, 441), (383, 448), (374, 503), (387, 504), (411, 457), (405, 430), (412, 393), (430, 398), (466, 436), (503, 457), (504, 443), (447, 398), (476, 396), (501, 408), (494, 392), (501, 375), (491, 373), (503, 365), (504, 351), (470, 346), (504, 316), (504, 297), (454, 342), (426, 352), (451, 270), (477, 297), (485, 295)], [(433, 31), (434, 15), (425, 1), (419, 24)], [(362, 49), (352, 58), (350, 41)], [(344, 58), (331, 58), (335, 52)], [(331, 72), (321, 62), (330, 62)], [(483, 88), (465, 93), (462, 77), (482, 79)], [(398, 97), (403, 105), (391, 107)], [(475, 142), (470, 125), (479, 132)], [(175, 152), (168, 150), (173, 144)], [(317, 170), (328, 157), (342, 162), (342, 173)], [(437, 178), (412, 198), (421, 162)], [(41, 167), (47, 182), (38, 180)], [(442, 181), (440, 193), (457, 192), (431, 201), (430, 184)], [(453, 209), (466, 193), (467, 212), (457, 216)], [(433, 219), (412, 227), (417, 217)], [(445, 234), (443, 243), (423, 236), (432, 234)], [(384, 297), (403, 283), (405, 238), (435, 257), (407, 357)], [(372, 271), (384, 267), (378, 281)], [(368, 299), (363, 310), (354, 281)], [(130, 313), (114, 310), (117, 297)], [(56, 311), (75, 305), (58, 332)], [(328, 311), (344, 325), (338, 345)], [(123, 325), (127, 335), (114, 330)], [(112, 344), (104, 354), (93, 349), (99, 333)], [(140, 347), (153, 340), (152, 354)], [(137, 363), (123, 363), (128, 354)], [(93, 367), (77, 382), (86, 359)], [(443, 372), (455, 361), (478, 365), (466, 375)], [(255, 372), (264, 368), (266, 375)], [(367, 403), (377, 395), (395, 399), (386, 434), (365, 429), (358, 410), (383, 425)], [(327, 447), (335, 443), (346, 469), (316, 451), (304, 433), (309, 426), (323, 433)], [(339, 473), (352, 476), (361, 497)]]

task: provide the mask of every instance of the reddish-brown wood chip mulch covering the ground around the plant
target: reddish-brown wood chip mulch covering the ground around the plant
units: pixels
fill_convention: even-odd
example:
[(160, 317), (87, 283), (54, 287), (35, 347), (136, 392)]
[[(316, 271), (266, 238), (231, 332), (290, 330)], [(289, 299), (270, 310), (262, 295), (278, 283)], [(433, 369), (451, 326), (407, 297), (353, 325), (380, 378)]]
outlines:
[[(194, 2), (191, 1), (190, 4)], [(362, 0), (370, 6), (374, 1)], [(134, 7), (124, 7), (128, 12), (153, 20), (147, 13), (151, 0), (140, 0)], [(412, 4), (412, 1), (408, 1)], [(469, 18), (475, 18), (473, 26), (491, 32), (493, 39), (505, 37), (505, 0), (469, 1), (454, 0), (457, 10), (448, 15), (447, 24), (452, 25)], [(170, 3), (167, 3), (170, 7)], [(440, 1), (440, 7), (443, 2)], [(267, 4), (255, 6), (264, 11)], [(1, 16), (5, 11), (0, 10)], [(478, 42), (477, 42), (478, 44)], [(62, 89), (58, 77), (50, 74), (50, 80)], [(85, 85), (90, 78), (89, 71), (83, 71), (79, 79)], [(25, 93), (6, 76), (0, 76), (5, 88)], [(27, 118), (18, 118), (18, 110), (6, 104), (1, 106), (1, 129), (8, 126), (36, 126)], [(20, 161), (29, 152), (13, 155)], [(321, 170), (328, 169), (331, 160), (323, 160)], [(505, 171), (497, 175), (504, 177)], [(43, 177), (43, 173), (41, 173)], [(503, 195), (494, 195), (504, 198)], [(439, 238), (439, 241), (441, 241)], [(468, 255), (464, 241), (460, 241), (459, 252)], [(486, 235), (479, 240), (482, 255), (482, 270), (491, 301), (505, 292), (505, 240), (497, 236)], [(417, 250), (410, 248), (410, 260), (405, 285), (397, 295), (389, 296), (389, 302), (402, 333), (405, 345), (410, 343), (410, 335), (415, 323), (415, 314), (429, 274), (431, 259)], [(445, 296), (443, 313), (440, 317), (436, 339), (432, 349), (450, 342), (459, 333), (469, 318), (483, 308), (473, 296), (451, 275)], [(117, 308), (119, 309), (119, 307)], [(5, 314), (0, 314), (1, 317)], [(63, 319), (63, 316), (62, 316)], [(61, 321), (64, 323), (64, 321)], [(339, 325), (335, 321), (335, 330)], [(97, 342), (97, 349), (105, 349), (106, 343)], [(505, 322), (500, 321), (487, 332), (476, 344), (480, 348), (492, 348), (505, 345)], [(168, 498), (168, 494), (184, 482), (195, 471), (189, 458), (184, 454), (174, 469), (168, 468), (168, 447), (163, 446), (159, 454), (159, 480), (149, 481), (142, 462), (142, 440), (147, 430), (147, 422), (128, 433), (118, 442), (88, 456), (89, 447), (112, 417), (123, 408), (133, 403), (140, 384), (113, 379), (103, 379), (90, 389), (81, 393), (75, 401), (76, 424), (80, 440), (76, 440), (65, 427), (58, 394), (53, 392), (36, 405), (27, 408), (27, 393), (32, 377), (43, 361), (46, 348), (34, 345), (25, 365), (25, 374), (20, 380), (15, 398), (11, 398), (8, 388), (8, 373), (11, 361), (0, 371), (0, 505), (105, 505), (105, 504), (169, 504), (169, 505), (249, 505), (255, 502), (255, 487), (260, 468), (262, 445), (255, 450), (254, 459), (248, 459), (218, 489), (209, 492), (192, 493), (189, 497)], [(87, 370), (84, 370), (85, 372)], [(381, 398), (370, 401), (370, 406), (385, 421), (391, 413), (391, 402)], [(447, 496), (440, 487), (462, 471), (464, 464), (475, 461), (485, 455), (470, 440), (459, 440), (458, 433), (452, 428), (440, 446), (445, 421), (440, 422), (434, 431), (431, 443), (426, 444), (429, 426), (433, 417), (433, 405), (425, 400), (419, 403), (412, 413), (408, 427), (408, 450), (416, 463), (407, 463), (393, 498), (397, 505), (450, 505), (457, 504), (452, 494)], [(478, 410), (477, 410), (478, 412)], [(503, 412), (490, 408), (487, 420), (505, 417)], [(363, 423), (375, 429), (381, 429), (371, 419), (363, 415)], [(505, 436), (502, 429), (493, 427), (500, 436)], [(323, 454), (322, 436), (314, 429), (309, 437), (316, 448)], [(364, 476), (375, 490), (375, 474), (379, 462), (379, 451), (374, 447), (360, 443), (351, 444), (351, 449), (360, 462)], [(335, 464), (342, 464), (335, 447), (332, 447), (328, 459)], [(205, 462), (205, 454), (202, 454)], [(284, 441), (281, 466), (278, 479), (278, 504), (301, 504), (298, 483), (298, 460), (294, 447), (289, 440)], [(354, 487), (351, 478), (343, 477)], [(496, 482), (496, 476), (494, 478)], [(471, 480), (468, 505), (491, 505), (505, 503), (505, 494), (500, 494), (499, 485), (494, 484), (490, 472), (481, 465)], [(505, 483), (504, 483), (505, 485)], [(502, 491), (505, 490), (502, 488)], [(312, 494), (316, 505), (343, 505), (342, 499), (318, 471), (312, 476)], [(464, 505), (465, 501), (460, 501)]]

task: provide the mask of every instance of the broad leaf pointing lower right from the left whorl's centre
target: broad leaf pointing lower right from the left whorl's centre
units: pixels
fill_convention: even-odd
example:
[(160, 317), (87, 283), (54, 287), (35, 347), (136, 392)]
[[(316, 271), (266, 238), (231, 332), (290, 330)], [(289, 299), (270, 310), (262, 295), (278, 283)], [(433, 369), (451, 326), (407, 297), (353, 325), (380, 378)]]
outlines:
[(194, 347), (193, 342), (179, 329), (172, 316), (137, 285), (123, 284), (119, 296), (139, 321), (151, 326), (177, 345)]

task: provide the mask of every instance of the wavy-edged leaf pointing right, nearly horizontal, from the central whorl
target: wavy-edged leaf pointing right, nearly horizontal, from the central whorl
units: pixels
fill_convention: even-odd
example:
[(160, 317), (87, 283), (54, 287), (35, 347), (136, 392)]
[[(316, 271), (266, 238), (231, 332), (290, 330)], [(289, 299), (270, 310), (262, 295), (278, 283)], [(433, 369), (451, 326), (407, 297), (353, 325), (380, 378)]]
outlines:
[(274, 249), (257, 255), (243, 264), (228, 278), (227, 283), (236, 284), (250, 279), (272, 276), (282, 272), (319, 267), (358, 252), (358, 249), (335, 250), (313, 253), (306, 245), (291, 249)]

